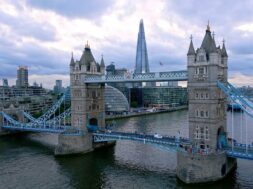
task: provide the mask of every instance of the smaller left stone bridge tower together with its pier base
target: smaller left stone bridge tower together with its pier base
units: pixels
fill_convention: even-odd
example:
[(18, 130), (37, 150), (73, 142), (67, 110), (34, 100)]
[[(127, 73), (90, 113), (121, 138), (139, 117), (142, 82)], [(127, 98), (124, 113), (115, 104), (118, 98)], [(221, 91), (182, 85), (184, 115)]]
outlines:
[(93, 150), (92, 135), (105, 127), (104, 90), (105, 84), (84, 83), (86, 76), (101, 76), (105, 74), (105, 64), (102, 57), (97, 63), (87, 42), (79, 61), (74, 61), (73, 53), (70, 61), (71, 89), (71, 126), (81, 128), (83, 136), (59, 136), (56, 155), (84, 153)]

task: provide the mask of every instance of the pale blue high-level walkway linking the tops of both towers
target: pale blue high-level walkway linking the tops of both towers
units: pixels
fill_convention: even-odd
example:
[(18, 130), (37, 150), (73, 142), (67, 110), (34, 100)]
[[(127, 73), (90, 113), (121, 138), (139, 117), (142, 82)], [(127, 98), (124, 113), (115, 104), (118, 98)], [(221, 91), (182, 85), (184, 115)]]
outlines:
[(188, 73), (186, 70), (171, 71), (171, 72), (153, 72), (125, 75), (87, 75), (85, 76), (84, 83), (123, 83), (123, 82), (158, 82), (158, 81), (187, 81)]

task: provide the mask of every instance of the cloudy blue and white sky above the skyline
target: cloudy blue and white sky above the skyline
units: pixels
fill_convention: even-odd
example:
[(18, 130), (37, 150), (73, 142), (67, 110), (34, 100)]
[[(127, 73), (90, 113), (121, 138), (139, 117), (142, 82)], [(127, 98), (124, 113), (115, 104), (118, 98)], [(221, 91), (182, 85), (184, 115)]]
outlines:
[(79, 60), (87, 41), (97, 62), (103, 55), (106, 65), (133, 71), (140, 19), (151, 72), (186, 70), (190, 36), (200, 47), (209, 20), (216, 45), (225, 40), (229, 81), (253, 86), (252, 7), (251, 0), (0, 0), (0, 79), (15, 84), (26, 65), (30, 85), (67, 86), (71, 52)]

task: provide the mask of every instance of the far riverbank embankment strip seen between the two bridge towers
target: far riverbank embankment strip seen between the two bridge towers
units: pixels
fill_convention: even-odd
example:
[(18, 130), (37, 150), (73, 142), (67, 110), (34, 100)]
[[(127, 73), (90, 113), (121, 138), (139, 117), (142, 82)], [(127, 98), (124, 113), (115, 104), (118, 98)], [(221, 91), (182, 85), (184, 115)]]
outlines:
[(150, 115), (150, 114), (160, 114), (160, 113), (174, 112), (174, 111), (185, 110), (185, 109), (188, 109), (188, 105), (170, 107), (165, 110), (157, 110), (154, 112), (145, 111), (145, 112), (130, 112), (125, 115), (106, 115), (105, 120), (121, 119), (121, 118), (129, 118), (129, 117), (139, 117), (139, 116), (145, 116), (145, 115)]

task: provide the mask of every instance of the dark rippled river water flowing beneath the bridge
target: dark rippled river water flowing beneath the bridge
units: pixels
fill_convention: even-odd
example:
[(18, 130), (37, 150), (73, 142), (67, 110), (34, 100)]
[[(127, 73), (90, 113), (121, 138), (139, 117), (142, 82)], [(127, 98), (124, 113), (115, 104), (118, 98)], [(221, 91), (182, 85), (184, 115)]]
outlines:
[[(234, 118), (232, 132), (231, 119)], [(245, 118), (242, 117), (245, 122)], [(238, 141), (253, 140), (253, 121), (241, 128), (241, 114), (228, 113), (228, 131)], [(117, 130), (188, 137), (187, 111), (117, 120)], [(241, 138), (241, 131), (244, 135)], [(232, 189), (253, 188), (253, 161), (238, 159), (237, 169), (226, 179), (209, 185), (188, 186), (176, 178), (176, 154), (133, 141), (114, 147), (67, 157), (54, 157), (53, 150), (29, 137), (0, 138), (0, 189)]]

